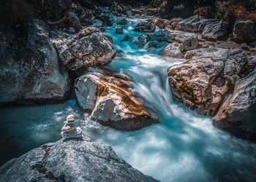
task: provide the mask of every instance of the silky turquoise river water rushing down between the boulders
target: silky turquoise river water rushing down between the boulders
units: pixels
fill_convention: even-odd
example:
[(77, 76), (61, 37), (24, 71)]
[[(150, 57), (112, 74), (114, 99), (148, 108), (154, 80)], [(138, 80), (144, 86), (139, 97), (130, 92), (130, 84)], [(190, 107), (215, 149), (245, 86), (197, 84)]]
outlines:
[(157, 55), (165, 42), (160, 42), (158, 49), (148, 50), (147, 45), (140, 49), (132, 42), (120, 41), (125, 35), (143, 34), (132, 31), (138, 21), (129, 18), (121, 35), (115, 34), (116, 25), (106, 28), (116, 50), (123, 51), (106, 67), (132, 77), (133, 91), (157, 114), (159, 124), (131, 132), (113, 130), (89, 121), (75, 100), (4, 108), (0, 110), (1, 164), (42, 143), (57, 141), (67, 114), (75, 114), (85, 135), (112, 146), (130, 165), (160, 181), (256, 181), (254, 143), (217, 129), (210, 117), (197, 115), (173, 101), (167, 68), (182, 60)]

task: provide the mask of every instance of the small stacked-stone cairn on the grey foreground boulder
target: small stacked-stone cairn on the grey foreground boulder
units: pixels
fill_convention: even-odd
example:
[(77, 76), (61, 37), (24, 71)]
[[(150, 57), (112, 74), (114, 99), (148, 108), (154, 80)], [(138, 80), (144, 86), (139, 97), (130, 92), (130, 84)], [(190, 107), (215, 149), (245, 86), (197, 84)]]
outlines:
[(83, 138), (81, 128), (76, 127), (75, 116), (73, 114), (67, 116), (67, 121), (64, 122), (64, 126), (61, 128), (61, 135), (64, 139)]

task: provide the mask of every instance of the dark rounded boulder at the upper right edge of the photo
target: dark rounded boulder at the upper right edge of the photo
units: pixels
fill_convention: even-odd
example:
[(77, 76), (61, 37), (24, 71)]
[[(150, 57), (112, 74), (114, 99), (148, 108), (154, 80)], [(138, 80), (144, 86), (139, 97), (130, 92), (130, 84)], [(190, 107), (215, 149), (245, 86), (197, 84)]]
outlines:
[(235, 41), (252, 42), (256, 41), (256, 25), (250, 20), (240, 20), (236, 22), (233, 28)]

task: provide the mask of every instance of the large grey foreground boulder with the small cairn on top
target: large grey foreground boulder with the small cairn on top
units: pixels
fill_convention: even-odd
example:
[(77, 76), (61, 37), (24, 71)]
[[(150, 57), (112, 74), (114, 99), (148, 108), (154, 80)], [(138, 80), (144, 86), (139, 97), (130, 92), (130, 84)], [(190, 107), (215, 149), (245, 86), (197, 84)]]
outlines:
[(63, 139), (0, 167), (0, 181), (157, 181), (132, 168), (110, 146)]

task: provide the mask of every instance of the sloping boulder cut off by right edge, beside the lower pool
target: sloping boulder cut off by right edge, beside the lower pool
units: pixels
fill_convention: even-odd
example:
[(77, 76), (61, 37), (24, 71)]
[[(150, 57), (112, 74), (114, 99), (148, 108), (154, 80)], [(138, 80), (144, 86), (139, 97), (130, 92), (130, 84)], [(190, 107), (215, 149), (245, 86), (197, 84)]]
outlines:
[(236, 82), (213, 122), (235, 135), (256, 141), (256, 69)]

